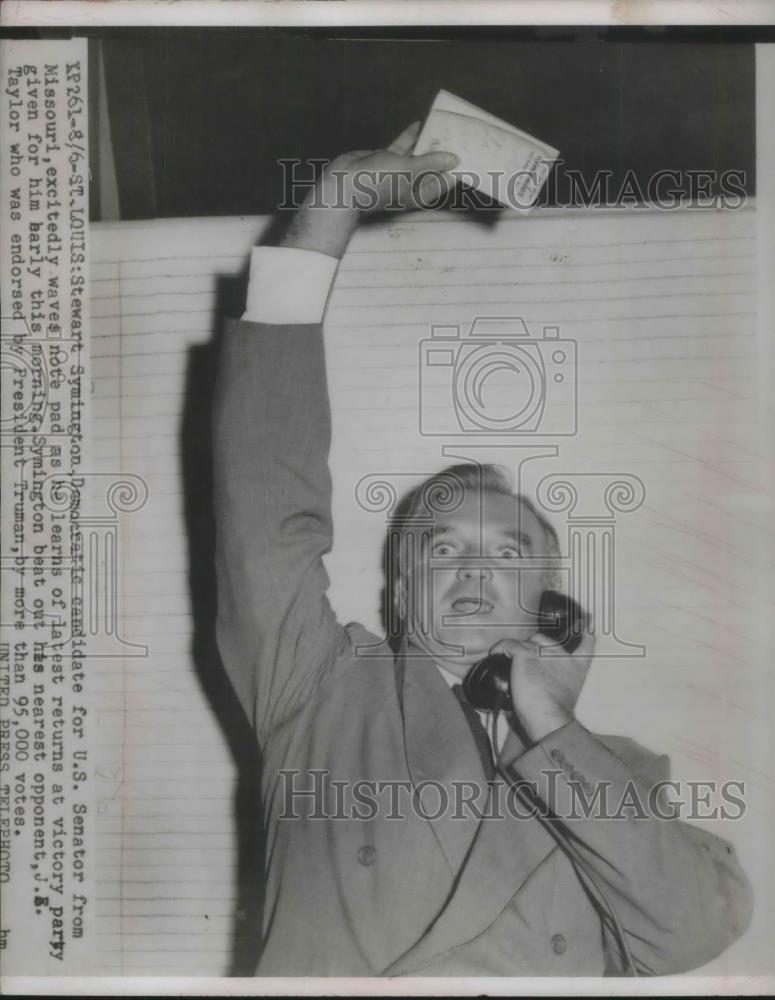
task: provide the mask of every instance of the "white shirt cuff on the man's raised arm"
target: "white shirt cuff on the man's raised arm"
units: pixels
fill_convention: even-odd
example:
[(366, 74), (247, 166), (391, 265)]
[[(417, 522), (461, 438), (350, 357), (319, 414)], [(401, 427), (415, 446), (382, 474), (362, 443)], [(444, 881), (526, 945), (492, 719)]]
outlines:
[(320, 323), (339, 260), (316, 250), (253, 247), (243, 319), (253, 323)]

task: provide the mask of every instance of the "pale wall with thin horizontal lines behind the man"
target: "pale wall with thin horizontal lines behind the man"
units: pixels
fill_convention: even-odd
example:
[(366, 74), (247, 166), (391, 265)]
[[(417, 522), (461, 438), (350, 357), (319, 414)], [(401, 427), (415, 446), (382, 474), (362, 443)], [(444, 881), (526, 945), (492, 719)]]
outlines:
[[(235, 933), (258, 954), (260, 833), (235, 821), (255, 793), (257, 762), (223, 692), (207, 620), (207, 427), (210, 344), (219, 314), (239, 301), (236, 277), (262, 227), (92, 227), (94, 465), (149, 487), (147, 504), (122, 521), (119, 554), (121, 631), (148, 655), (102, 661), (95, 679), (103, 975), (222, 974)], [(431, 325), (465, 332), (477, 315), (521, 316), (537, 338), (550, 324), (578, 342), (579, 432), (552, 439), (558, 455), (529, 462), (523, 485), (596, 472), (635, 475), (646, 488), (616, 540), (617, 632), (646, 656), (599, 660), (579, 715), (669, 753), (677, 777), (746, 782), (746, 818), (710, 828), (766, 878), (754, 927), (713, 971), (751, 975), (767, 968), (775, 898), (775, 501), (755, 253), (751, 209), (538, 212), (494, 226), (412, 216), (359, 232), (326, 321), (331, 597), (343, 620), (375, 630), (385, 521), (358, 506), (356, 484), (380, 475), (409, 488), (455, 460), (418, 429), (419, 344)], [(438, 389), (432, 405), (442, 397)], [(456, 455), (517, 460), (454, 443)]]

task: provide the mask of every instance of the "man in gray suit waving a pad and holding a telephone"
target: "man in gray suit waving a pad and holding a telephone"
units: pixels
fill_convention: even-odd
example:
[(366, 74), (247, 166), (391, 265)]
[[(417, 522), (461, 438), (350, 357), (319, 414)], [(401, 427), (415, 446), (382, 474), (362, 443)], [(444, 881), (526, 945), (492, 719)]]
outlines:
[[(630, 740), (595, 736), (575, 718), (593, 637), (573, 654), (557, 647), (539, 658), (546, 640), (535, 618), (532, 629), (515, 630), (517, 605), (528, 620), (535, 615), (554, 551), (551, 529), (531, 505), (493, 470), (453, 470), (464, 493), (434, 520), (430, 556), (441, 565), (430, 620), (412, 585), (423, 570), (417, 559), (426, 557), (396, 567), (397, 654), (362, 626), (341, 625), (328, 603), (323, 312), (359, 218), (348, 202), (356, 172), (387, 175), (373, 187), (371, 207), (380, 209), (395, 203), (396, 191), (416, 206), (418, 175), (454, 165), (443, 153), (410, 156), (415, 134), (334, 161), (317, 201), (308, 199), (279, 245), (254, 249), (245, 315), (222, 341), (217, 630), (263, 754), (266, 903), (257, 972), (696, 968), (747, 927), (749, 884), (732, 847), (697, 827), (574, 810), (579, 787), (605, 785), (612, 800), (637, 788), (653, 802), (649, 790), (667, 776), (667, 762)], [(394, 183), (402, 174), (413, 188)], [(470, 488), (472, 475), (484, 476), (479, 489)], [(483, 740), (457, 688), (494, 648), (511, 657), (513, 711)], [(534, 812), (457, 808), (461, 788), (481, 790), (478, 806), (488, 806), (519, 781), (531, 783)], [(409, 807), (379, 799), (385, 787), (407, 791)], [(334, 792), (354, 789), (358, 808), (340, 809)], [(434, 808), (421, 789), (455, 808)], [(365, 791), (378, 808), (366, 804)]]

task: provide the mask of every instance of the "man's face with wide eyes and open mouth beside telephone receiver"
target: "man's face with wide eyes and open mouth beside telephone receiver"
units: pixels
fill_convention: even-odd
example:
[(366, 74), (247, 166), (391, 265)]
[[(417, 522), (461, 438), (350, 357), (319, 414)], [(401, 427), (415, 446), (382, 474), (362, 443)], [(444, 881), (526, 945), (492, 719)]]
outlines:
[(409, 641), (462, 677), (500, 639), (526, 639), (536, 631), (549, 553), (525, 506), (469, 490), (457, 510), (436, 515), (430, 554), (415, 556)]

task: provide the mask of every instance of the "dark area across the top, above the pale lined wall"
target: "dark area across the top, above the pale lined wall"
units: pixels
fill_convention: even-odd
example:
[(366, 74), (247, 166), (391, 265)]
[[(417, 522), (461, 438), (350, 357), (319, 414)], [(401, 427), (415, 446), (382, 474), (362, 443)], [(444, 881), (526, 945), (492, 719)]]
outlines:
[(645, 190), (658, 170), (733, 169), (755, 193), (745, 35), (177, 29), (96, 44), (123, 218), (269, 214), (279, 158), (382, 146), (441, 87), (558, 147), (589, 183), (604, 169), (613, 191), (628, 170)]

